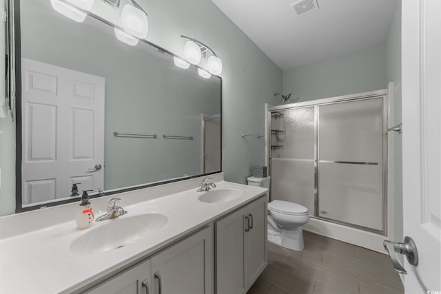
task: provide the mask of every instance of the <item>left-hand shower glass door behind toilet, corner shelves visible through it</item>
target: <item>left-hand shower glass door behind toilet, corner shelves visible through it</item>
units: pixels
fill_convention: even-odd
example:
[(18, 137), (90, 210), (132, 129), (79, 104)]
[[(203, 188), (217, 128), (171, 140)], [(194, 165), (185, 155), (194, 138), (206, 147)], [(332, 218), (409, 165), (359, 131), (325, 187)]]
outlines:
[(314, 106), (271, 112), (271, 200), (314, 213)]

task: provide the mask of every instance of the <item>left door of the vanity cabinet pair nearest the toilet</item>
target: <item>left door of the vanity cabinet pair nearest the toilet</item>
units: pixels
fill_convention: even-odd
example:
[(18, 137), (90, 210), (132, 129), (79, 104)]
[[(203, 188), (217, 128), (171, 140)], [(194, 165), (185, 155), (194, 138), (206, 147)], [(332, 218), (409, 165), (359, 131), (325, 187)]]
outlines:
[(216, 294), (246, 293), (245, 213), (240, 209), (215, 223)]

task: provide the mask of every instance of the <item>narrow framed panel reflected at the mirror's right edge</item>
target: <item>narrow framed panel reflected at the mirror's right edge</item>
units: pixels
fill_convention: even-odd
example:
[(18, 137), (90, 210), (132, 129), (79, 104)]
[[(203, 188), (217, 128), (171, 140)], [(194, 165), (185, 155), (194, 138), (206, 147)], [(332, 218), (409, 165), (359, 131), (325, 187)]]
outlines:
[(220, 171), (220, 114), (201, 115), (203, 174)]

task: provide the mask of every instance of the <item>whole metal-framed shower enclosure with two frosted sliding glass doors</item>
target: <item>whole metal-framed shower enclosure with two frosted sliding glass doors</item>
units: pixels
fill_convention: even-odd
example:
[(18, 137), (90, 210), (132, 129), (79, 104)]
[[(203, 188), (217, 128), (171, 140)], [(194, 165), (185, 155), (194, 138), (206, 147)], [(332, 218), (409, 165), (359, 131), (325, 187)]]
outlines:
[(271, 200), (386, 235), (387, 94), (268, 107)]

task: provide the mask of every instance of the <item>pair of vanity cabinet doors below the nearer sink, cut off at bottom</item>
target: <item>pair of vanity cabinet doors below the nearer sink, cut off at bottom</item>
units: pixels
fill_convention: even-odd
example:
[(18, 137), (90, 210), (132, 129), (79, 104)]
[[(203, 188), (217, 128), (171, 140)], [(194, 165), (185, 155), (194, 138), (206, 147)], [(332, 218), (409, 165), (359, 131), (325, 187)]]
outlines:
[(206, 227), (85, 293), (213, 293), (213, 260), (213, 227)]

